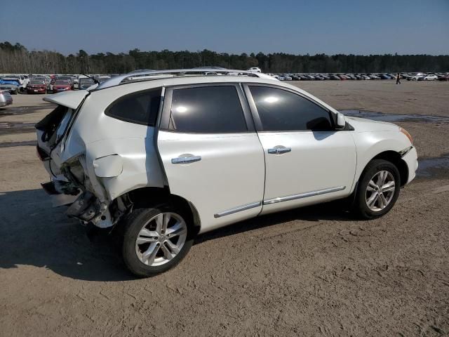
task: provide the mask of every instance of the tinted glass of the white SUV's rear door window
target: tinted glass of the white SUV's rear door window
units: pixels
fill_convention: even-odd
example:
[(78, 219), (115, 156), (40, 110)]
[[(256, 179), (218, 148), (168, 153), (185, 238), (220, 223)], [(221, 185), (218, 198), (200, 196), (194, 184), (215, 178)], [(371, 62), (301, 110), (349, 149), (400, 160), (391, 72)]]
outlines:
[(247, 131), (235, 86), (203, 86), (173, 90), (169, 128), (179, 132)]

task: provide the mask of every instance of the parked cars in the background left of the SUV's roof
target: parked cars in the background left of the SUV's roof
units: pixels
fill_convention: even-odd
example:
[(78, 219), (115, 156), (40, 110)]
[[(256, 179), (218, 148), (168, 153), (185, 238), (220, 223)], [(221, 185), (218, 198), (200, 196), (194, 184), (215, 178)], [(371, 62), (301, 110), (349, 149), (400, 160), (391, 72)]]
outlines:
[(86, 90), (95, 84), (110, 79), (107, 75), (25, 75), (5, 74), (0, 76), (0, 91), (8, 91), (14, 95), (26, 93), (60, 93), (69, 90)]

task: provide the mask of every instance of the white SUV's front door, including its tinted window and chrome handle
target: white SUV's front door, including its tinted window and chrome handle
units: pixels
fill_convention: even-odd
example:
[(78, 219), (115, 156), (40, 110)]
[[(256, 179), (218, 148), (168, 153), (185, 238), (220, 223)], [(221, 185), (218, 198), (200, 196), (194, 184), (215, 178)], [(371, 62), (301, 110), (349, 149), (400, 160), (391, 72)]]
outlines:
[(264, 149), (262, 213), (349, 195), (356, 170), (351, 131), (336, 131), (332, 112), (279, 87), (249, 85)]

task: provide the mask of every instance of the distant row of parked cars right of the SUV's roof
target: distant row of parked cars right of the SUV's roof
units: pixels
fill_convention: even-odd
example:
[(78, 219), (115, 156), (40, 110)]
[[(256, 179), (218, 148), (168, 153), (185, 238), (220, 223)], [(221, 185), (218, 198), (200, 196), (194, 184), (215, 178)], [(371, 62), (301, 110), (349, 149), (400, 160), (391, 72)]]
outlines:
[[(269, 74), (280, 81), (321, 81), (326, 79), (333, 80), (366, 80), (366, 79), (396, 79), (397, 74), (391, 73), (368, 73), (368, 74)], [(408, 81), (449, 81), (449, 73), (434, 73), (430, 72), (424, 74), (422, 72), (399, 74), (401, 79)]]

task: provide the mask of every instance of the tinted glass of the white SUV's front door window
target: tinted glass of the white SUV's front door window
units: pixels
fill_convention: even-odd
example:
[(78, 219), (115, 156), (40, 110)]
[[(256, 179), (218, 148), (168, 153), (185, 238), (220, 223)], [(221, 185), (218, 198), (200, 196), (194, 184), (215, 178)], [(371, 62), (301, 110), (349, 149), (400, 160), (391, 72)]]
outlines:
[(264, 131), (330, 130), (329, 112), (300, 95), (278, 88), (250, 86)]

